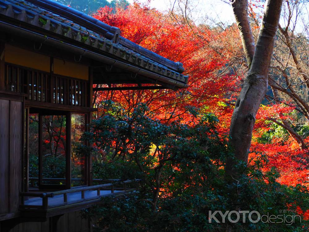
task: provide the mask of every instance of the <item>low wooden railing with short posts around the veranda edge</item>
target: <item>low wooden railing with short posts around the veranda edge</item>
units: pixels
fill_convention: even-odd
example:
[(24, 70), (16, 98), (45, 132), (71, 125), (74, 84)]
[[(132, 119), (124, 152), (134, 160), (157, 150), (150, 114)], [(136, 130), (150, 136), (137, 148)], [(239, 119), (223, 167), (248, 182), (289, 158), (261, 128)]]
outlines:
[[(78, 188), (72, 188), (68, 190), (61, 190), (61, 191), (54, 191), (54, 192), (48, 192), (48, 193), (38, 193), (38, 192), (21, 192), (21, 205), (20, 208), (31, 208), (31, 209), (44, 209), (47, 210), (49, 208), (55, 208), (63, 205), (68, 205), (68, 194), (74, 193), (74, 192), (80, 192), (81, 198), (70, 202), (70, 204), (75, 204), (78, 202), (84, 202), (84, 201), (90, 201), (99, 199), (101, 195), (101, 190), (110, 190), (111, 193), (109, 195), (123, 195), (125, 193), (128, 193), (130, 191), (133, 191), (136, 188), (127, 188), (127, 184), (130, 183), (136, 183), (138, 184), (141, 180), (140, 179), (134, 179), (134, 180), (126, 180), (126, 181), (120, 181), (119, 179), (100, 179), (102, 182), (110, 182), (106, 184), (100, 184), (100, 185), (94, 185), (94, 186), (87, 186), (87, 187), (78, 187)], [(115, 185), (123, 185), (123, 188), (116, 188), (117, 192), (115, 193)], [(97, 191), (96, 196), (93, 197), (87, 197), (85, 198), (85, 192), (86, 191)], [(49, 206), (48, 200), (49, 198), (53, 198), (57, 195), (63, 195), (63, 202)], [(106, 194), (105, 194), (106, 195)], [(31, 204), (25, 204), (25, 197), (40, 197), (42, 198), (42, 205), (31, 205)]]

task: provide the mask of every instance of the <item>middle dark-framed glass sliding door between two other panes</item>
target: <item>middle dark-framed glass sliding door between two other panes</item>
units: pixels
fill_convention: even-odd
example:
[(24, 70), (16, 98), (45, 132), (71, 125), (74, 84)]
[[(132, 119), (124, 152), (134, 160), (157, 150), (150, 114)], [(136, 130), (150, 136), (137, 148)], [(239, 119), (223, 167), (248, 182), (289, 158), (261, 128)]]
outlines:
[(39, 114), (39, 188), (70, 188), (70, 114)]

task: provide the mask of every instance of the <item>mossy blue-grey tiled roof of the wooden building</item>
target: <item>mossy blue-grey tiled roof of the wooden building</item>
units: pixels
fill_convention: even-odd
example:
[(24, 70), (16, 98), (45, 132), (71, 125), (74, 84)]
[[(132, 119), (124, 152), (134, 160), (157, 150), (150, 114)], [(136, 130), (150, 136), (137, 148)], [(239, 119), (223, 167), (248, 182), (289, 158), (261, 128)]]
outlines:
[[(110, 35), (111, 33), (105, 33), (103, 35), (103, 33), (94, 32), (80, 24), (76, 24), (68, 18), (61, 17), (52, 11), (47, 11), (30, 1), (0, 0), (0, 15), (5, 15), (6, 17), (31, 24), (35, 27), (42, 28), (43, 30), (91, 46), (98, 51), (102, 51), (104, 54), (112, 54), (113, 56), (118, 57), (119, 60), (125, 60), (135, 66), (142, 67), (143, 69), (158, 73), (159, 75), (175, 79), (185, 84), (188, 82), (187, 76), (184, 76), (159, 62), (155, 62), (153, 59), (142, 55), (142, 52), (139, 53), (116, 43), (113, 41), (113, 37)], [(87, 17), (92, 18), (90, 16)], [(112, 30), (113, 29), (114, 28), (112, 28)], [(114, 30), (117, 30), (117, 28)], [(122, 38), (122, 40), (125, 41), (124, 38)], [(154, 53), (150, 52), (150, 54)]]

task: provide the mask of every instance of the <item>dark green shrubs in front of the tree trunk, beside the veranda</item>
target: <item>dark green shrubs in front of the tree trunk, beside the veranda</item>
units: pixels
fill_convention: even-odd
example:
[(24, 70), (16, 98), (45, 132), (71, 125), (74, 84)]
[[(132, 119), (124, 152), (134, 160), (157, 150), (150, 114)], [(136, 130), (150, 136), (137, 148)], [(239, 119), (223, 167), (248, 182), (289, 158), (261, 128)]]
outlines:
[[(235, 161), (235, 175), (226, 176), (224, 161), (233, 153), (227, 139), (218, 135), (214, 115), (195, 112), (198, 120), (193, 125), (163, 124), (152, 119), (145, 105), (130, 114), (110, 105), (112, 110), (94, 120), (92, 130), (83, 135), (83, 140), (95, 145), (80, 151), (100, 154), (97, 157), (104, 151), (104, 159), (96, 158), (94, 176), (141, 178), (142, 183), (131, 195), (117, 200), (105, 197), (85, 210), (85, 217), (95, 218), (95, 230), (307, 231), (309, 225), (302, 216), (291, 225), (253, 223), (248, 214), (246, 223), (231, 223), (227, 218), (225, 223), (209, 222), (209, 211), (216, 210), (279, 215), (283, 210), (309, 208), (305, 187), (280, 185), (275, 169), (261, 172), (267, 163), (265, 155), (249, 165)], [(218, 214), (216, 218), (222, 221)]]

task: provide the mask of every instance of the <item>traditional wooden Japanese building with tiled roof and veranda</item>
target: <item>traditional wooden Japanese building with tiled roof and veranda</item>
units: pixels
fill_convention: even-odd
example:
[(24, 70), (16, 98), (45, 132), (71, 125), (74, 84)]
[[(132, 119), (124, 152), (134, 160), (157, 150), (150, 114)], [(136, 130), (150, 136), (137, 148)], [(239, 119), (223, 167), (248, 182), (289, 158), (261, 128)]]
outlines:
[(0, 232), (91, 231), (81, 209), (134, 189), (93, 180), (75, 151), (93, 84), (176, 90), (187, 77), (120, 33), (51, 0), (0, 0)]

